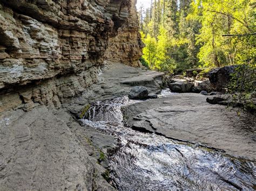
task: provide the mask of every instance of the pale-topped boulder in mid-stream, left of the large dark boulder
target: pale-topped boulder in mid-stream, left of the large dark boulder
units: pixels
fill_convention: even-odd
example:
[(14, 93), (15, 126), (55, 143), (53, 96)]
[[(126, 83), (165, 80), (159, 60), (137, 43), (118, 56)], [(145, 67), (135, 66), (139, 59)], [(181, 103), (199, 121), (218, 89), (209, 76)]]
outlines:
[(194, 87), (194, 83), (181, 79), (173, 79), (171, 83), (168, 84), (168, 86), (171, 91), (188, 93), (191, 92), (192, 88)]

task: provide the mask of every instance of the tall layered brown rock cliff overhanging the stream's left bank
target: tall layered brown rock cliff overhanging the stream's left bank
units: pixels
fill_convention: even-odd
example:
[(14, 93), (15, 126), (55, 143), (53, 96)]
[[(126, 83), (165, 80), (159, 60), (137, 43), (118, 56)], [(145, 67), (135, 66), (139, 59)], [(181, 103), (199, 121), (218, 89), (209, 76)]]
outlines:
[(0, 112), (59, 108), (97, 82), (105, 59), (137, 66), (135, 3), (2, 0)]

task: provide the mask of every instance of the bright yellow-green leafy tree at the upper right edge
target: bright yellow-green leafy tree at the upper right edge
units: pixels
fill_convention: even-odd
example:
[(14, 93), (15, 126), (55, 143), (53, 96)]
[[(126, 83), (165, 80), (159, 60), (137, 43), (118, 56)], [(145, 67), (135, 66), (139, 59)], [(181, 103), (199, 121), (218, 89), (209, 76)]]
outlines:
[[(192, 3), (190, 18), (201, 22), (197, 35), (199, 62), (204, 67), (238, 64), (244, 41), (224, 34), (255, 32), (255, 3), (250, 0), (201, 0)], [(254, 13), (253, 13), (254, 12)], [(255, 45), (255, 44), (254, 44)], [(252, 46), (253, 48), (253, 46)], [(255, 48), (255, 46), (254, 46)], [(247, 60), (250, 55), (242, 55)]]

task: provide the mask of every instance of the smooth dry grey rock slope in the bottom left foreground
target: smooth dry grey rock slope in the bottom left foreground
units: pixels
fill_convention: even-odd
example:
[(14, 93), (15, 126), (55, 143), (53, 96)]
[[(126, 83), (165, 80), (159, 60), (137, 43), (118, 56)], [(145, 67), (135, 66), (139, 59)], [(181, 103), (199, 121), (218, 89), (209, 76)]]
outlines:
[(113, 189), (71, 132), (83, 128), (64, 113), (64, 120), (46, 107), (1, 113), (0, 190)]

